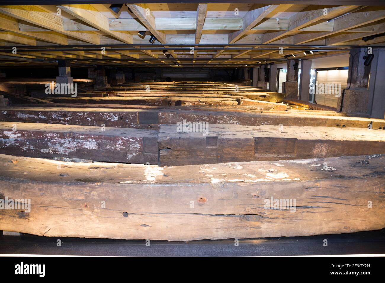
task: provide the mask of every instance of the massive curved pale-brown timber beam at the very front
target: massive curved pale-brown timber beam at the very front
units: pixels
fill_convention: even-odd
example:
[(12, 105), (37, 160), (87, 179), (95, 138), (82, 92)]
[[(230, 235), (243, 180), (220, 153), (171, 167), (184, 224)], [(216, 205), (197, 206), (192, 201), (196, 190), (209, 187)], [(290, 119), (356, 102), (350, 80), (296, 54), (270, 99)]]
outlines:
[(180, 167), (1, 154), (0, 166), (0, 198), (30, 199), (29, 212), (0, 209), (6, 231), (188, 241), (385, 227), (381, 154)]

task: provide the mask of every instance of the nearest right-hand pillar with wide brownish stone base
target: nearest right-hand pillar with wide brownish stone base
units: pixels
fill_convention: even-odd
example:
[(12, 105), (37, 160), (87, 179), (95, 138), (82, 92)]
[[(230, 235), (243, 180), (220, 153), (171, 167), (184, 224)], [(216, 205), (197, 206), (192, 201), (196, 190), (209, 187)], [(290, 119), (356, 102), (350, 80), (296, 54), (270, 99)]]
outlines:
[[(342, 92), (341, 96), (338, 97), (337, 111), (341, 110), (342, 104), (342, 112), (354, 116), (369, 116), (368, 82), (371, 66), (365, 66), (363, 64), (365, 62), (365, 59), (363, 59), (363, 57), (365, 55), (368, 55), (367, 48), (353, 48), (350, 50), (349, 53), (350, 60), (347, 84), (348, 86), (345, 91)], [(377, 74), (377, 70), (375, 74)], [(372, 76), (370, 80), (372, 80)]]

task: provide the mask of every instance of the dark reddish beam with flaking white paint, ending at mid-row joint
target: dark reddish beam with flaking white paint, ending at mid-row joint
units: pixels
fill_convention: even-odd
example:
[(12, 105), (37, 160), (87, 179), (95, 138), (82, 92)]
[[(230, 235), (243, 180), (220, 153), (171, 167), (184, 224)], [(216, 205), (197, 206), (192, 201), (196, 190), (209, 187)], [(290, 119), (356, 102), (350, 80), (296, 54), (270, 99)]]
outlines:
[(157, 132), (141, 129), (0, 122), (0, 153), (157, 164)]

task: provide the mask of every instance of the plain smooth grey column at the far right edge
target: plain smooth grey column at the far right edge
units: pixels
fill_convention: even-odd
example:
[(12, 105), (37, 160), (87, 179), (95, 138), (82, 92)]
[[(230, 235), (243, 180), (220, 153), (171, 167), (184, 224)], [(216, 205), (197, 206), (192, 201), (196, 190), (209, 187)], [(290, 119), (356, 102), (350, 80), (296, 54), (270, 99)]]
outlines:
[[(363, 52), (361, 52), (363, 53)], [(385, 119), (385, 49), (373, 49), (370, 65), (369, 97), (367, 114), (372, 118)]]

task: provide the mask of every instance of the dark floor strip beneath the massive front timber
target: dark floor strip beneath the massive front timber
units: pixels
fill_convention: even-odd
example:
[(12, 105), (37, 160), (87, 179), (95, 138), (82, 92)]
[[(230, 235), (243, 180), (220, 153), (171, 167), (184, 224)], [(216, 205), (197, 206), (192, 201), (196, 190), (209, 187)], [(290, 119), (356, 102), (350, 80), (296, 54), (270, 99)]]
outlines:
[[(60, 239), (61, 246), (57, 246)], [(327, 240), (327, 246), (324, 246)], [(95, 256), (291, 256), (385, 254), (385, 229), (302, 237), (190, 242), (0, 235), (0, 254)]]

